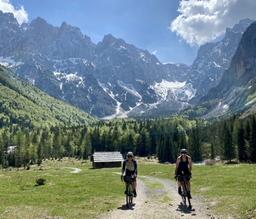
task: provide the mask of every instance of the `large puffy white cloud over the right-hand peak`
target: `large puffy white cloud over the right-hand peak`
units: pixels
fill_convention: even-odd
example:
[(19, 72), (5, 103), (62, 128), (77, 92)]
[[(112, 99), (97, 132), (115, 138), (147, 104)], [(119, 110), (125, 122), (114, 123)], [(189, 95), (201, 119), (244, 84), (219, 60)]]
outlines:
[(181, 0), (170, 29), (190, 45), (211, 42), (239, 20), (256, 20), (256, 0)]

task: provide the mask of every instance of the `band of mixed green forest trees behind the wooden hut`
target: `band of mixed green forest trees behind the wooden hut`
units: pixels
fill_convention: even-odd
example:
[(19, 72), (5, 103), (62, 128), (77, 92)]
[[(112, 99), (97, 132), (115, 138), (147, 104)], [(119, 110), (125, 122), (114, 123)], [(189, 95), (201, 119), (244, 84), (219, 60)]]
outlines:
[(92, 125), (0, 129), (0, 165), (23, 167), (43, 159), (64, 156), (88, 159), (94, 151), (128, 151), (136, 156), (156, 156), (160, 162), (176, 162), (181, 148), (193, 161), (238, 159), (256, 162), (256, 116), (210, 123), (185, 118), (113, 119)]

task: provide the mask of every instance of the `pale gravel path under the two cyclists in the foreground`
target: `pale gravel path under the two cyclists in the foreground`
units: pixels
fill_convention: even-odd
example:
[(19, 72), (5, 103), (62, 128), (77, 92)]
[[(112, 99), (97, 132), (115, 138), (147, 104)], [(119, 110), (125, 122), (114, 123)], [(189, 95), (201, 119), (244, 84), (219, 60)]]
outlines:
[[(143, 179), (143, 180), (142, 180)], [(147, 185), (160, 183), (153, 189)], [(192, 184), (193, 186), (193, 184)], [(192, 187), (193, 188), (193, 187)], [(125, 186), (124, 186), (125, 189)], [(133, 199), (130, 208), (126, 206), (125, 195), (118, 208), (105, 213), (101, 218), (119, 219), (119, 218), (137, 218), (137, 219), (218, 219), (218, 216), (212, 216), (200, 197), (193, 196), (192, 209), (185, 206), (181, 196), (177, 193), (177, 183), (168, 179), (158, 179), (149, 176), (140, 176), (137, 178), (137, 197)], [(193, 189), (192, 189), (193, 191)], [(163, 201), (164, 197), (169, 197), (168, 201)]]

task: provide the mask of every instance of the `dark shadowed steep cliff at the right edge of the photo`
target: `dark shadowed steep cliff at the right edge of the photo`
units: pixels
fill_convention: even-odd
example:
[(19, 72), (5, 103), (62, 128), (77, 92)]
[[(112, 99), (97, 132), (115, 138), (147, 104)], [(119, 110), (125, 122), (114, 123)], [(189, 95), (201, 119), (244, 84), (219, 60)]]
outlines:
[[(237, 108), (253, 103), (256, 93), (256, 22), (243, 34), (237, 51), (221, 82), (201, 98), (201, 102), (220, 99), (220, 105)], [(249, 103), (249, 104), (250, 104)]]

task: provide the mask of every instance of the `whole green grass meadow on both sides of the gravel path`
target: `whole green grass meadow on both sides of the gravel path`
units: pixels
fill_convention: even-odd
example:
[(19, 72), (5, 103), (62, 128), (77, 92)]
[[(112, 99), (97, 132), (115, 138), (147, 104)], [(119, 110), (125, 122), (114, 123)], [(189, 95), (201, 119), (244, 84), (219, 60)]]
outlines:
[[(0, 218), (96, 218), (125, 199), (124, 183), (116, 174), (121, 168), (92, 169), (91, 162), (67, 158), (45, 160), (41, 166), (44, 171), (37, 166), (29, 171), (0, 171)], [(70, 173), (73, 170), (64, 167), (82, 171)], [(139, 176), (175, 180), (174, 168), (138, 160)], [(255, 218), (255, 173), (255, 164), (192, 165), (192, 196), (201, 196), (212, 213), (224, 218), (229, 213), (235, 218)], [(45, 185), (35, 186), (39, 177), (46, 179)], [(145, 184), (158, 186), (157, 182)]]

